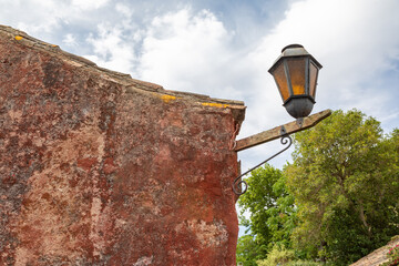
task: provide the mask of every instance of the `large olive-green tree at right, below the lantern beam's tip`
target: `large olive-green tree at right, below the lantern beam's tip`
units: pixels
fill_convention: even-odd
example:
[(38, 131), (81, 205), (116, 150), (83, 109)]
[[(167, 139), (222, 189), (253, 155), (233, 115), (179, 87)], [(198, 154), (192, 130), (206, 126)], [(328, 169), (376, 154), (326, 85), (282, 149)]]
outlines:
[(297, 249), (347, 265), (398, 234), (398, 140), (357, 110), (295, 135), (285, 173), (299, 209)]

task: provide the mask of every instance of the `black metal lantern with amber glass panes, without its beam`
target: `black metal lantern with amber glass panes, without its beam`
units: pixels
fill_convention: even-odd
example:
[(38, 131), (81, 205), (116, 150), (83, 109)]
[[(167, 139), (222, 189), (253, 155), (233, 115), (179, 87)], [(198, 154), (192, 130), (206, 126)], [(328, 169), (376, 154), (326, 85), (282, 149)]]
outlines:
[(290, 44), (269, 69), (284, 106), (295, 119), (308, 116), (315, 104), (318, 71), (321, 64), (303, 45)]

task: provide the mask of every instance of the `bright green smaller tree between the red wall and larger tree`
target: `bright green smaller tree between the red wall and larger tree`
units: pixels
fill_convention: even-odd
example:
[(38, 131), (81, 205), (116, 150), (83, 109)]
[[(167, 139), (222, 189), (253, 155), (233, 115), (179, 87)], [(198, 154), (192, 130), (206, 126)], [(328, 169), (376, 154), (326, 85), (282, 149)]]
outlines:
[[(237, 249), (237, 258), (248, 258), (245, 266), (256, 265), (275, 245), (290, 248), (290, 234), (296, 224), (294, 197), (287, 192), (280, 170), (266, 164), (253, 171), (246, 182), (249, 188), (239, 197), (238, 205), (242, 225), (249, 227), (250, 235), (241, 237), (238, 247), (250, 244), (252, 248)], [(249, 213), (249, 219), (244, 217), (245, 212)], [(248, 252), (245, 255), (243, 250)]]

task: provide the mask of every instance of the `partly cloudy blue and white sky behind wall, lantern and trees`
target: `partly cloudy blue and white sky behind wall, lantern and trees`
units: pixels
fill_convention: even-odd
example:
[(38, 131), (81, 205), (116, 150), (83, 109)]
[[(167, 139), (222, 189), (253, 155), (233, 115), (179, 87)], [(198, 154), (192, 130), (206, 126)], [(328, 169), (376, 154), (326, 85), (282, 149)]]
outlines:
[[(313, 113), (358, 109), (399, 124), (398, 0), (0, 0), (0, 24), (134, 79), (244, 101), (242, 139), (294, 119), (267, 72), (300, 43), (321, 64)], [(280, 150), (239, 152), (243, 171)], [(270, 161), (282, 167), (291, 147)]]

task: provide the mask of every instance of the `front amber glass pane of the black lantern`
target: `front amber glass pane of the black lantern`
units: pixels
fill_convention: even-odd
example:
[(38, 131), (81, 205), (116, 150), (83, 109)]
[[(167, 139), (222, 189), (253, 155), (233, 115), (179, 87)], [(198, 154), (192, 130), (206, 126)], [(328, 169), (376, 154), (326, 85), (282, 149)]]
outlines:
[(287, 60), (294, 95), (305, 94), (305, 58)]

